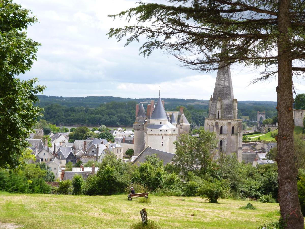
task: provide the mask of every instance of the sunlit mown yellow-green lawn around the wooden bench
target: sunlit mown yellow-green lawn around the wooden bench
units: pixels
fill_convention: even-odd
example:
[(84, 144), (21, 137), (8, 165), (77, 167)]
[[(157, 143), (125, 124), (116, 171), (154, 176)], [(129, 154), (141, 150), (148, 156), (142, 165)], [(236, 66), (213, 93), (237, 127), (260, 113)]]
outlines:
[[(0, 192), (0, 225), (23, 228), (128, 228), (140, 221), (140, 210), (161, 228), (256, 228), (279, 217), (277, 203), (251, 203), (257, 210), (241, 210), (249, 201), (199, 197), (159, 197), (151, 203), (127, 200), (127, 195), (72, 196)], [(195, 216), (191, 216), (194, 213)]]

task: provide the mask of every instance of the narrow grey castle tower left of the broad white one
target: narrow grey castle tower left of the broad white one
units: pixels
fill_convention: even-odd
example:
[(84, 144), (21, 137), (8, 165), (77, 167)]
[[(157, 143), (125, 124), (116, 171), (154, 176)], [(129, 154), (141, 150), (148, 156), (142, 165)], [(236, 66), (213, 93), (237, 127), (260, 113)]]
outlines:
[(145, 147), (145, 137), (144, 137), (144, 124), (145, 120), (147, 119), (147, 115), (144, 109), (143, 104), (136, 105), (136, 114), (135, 114), (135, 123), (134, 123), (134, 130), (135, 130), (135, 149), (134, 155), (138, 156)]

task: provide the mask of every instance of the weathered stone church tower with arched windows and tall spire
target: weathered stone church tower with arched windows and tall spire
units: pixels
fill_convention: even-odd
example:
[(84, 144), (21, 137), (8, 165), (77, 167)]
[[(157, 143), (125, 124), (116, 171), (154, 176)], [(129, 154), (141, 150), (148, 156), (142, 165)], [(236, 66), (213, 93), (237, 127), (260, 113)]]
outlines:
[(204, 129), (215, 132), (219, 140), (218, 152), (235, 153), (242, 161), (242, 120), (237, 117), (237, 100), (233, 96), (230, 66), (217, 71), (213, 97), (209, 102), (209, 117)]

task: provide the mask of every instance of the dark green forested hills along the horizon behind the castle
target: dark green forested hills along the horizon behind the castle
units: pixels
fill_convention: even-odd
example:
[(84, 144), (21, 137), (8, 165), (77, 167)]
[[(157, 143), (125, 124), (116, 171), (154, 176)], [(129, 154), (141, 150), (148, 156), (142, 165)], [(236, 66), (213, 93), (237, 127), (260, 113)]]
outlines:
[[(145, 109), (150, 100), (156, 98), (131, 99), (113, 96), (62, 97), (38, 96), (39, 107), (44, 108), (44, 117), (48, 122), (59, 125), (96, 126), (97, 123), (110, 126), (132, 126), (135, 121), (135, 105), (142, 102)], [(163, 98), (162, 98), (163, 99)], [(209, 100), (164, 98), (167, 111), (185, 107), (185, 115), (192, 125), (203, 126), (208, 116)], [(277, 115), (274, 101), (239, 101), (239, 116), (256, 118), (257, 111), (266, 111), (270, 118)]]

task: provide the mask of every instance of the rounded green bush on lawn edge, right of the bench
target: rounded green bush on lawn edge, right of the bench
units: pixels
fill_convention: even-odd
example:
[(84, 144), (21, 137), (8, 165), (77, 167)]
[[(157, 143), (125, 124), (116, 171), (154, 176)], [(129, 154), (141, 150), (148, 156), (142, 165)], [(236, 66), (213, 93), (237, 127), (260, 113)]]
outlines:
[(202, 198), (208, 198), (210, 203), (217, 203), (218, 198), (224, 198), (228, 193), (226, 180), (204, 181), (198, 188), (197, 194)]

